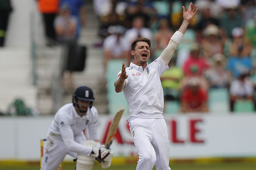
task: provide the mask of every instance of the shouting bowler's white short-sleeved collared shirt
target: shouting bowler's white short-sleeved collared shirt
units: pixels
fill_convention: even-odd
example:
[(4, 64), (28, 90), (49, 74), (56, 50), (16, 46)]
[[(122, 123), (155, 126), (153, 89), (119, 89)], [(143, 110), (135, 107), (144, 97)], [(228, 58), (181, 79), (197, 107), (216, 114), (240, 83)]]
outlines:
[[(164, 118), (164, 94), (160, 76), (168, 69), (161, 57), (147, 64), (144, 71), (142, 66), (134, 63), (127, 67), (128, 75), (123, 94), (129, 108), (130, 122), (134, 118)], [(120, 77), (121, 71), (117, 75)]]

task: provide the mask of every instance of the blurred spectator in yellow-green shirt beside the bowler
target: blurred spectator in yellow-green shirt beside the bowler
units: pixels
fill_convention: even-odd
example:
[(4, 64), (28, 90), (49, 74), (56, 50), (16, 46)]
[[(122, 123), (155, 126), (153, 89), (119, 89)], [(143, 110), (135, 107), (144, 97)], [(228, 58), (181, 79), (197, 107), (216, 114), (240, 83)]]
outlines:
[(164, 91), (164, 100), (179, 100), (179, 83), (183, 77), (183, 71), (175, 65), (176, 57), (172, 56), (169, 69), (160, 77)]

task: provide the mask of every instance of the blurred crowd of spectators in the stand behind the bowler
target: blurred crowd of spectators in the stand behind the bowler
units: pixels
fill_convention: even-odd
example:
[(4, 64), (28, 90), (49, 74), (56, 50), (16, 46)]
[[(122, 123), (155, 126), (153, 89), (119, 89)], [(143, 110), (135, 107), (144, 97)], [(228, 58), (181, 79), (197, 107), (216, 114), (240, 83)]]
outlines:
[[(103, 37), (105, 69), (110, 59), (132, 61), (130, 44), (146, 37), (154, 61), (181, 25), (190, 1), (94, 0)], [(197, 0), (198, 13), (161, 77), (166, 101), (180, 112), (208, 112), (208, 92), (225, 88), (230, 111), (240, 101), (255, 103), (256, 1)]]

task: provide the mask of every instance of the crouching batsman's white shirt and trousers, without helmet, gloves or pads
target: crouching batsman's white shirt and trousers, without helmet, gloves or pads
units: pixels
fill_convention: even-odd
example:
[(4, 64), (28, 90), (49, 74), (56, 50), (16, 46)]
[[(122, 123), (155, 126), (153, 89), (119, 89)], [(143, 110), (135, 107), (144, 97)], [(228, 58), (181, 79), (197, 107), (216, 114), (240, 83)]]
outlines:
[(98, 111), (88, 109), (84, 116), (79, 116), (72, 103), (61, 107), (47, 133), (41, 170), (56, 170), (66, 154), (76, 157), (77, 153), (89, 156), (92, 147), (84, 146), (86, 141), (83, 130), (88, 128), (89, 139), (98, 140)]

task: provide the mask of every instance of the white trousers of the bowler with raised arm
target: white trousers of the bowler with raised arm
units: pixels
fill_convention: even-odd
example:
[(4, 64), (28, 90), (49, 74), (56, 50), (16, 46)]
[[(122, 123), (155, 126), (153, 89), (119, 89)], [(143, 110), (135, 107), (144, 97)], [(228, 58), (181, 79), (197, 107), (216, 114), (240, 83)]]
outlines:
[(139, 152), (136, 170), (171, 170), (169, 140), (164, 118), (135, 118), (129, 123), (134, 144)]

